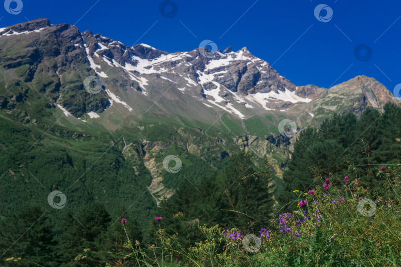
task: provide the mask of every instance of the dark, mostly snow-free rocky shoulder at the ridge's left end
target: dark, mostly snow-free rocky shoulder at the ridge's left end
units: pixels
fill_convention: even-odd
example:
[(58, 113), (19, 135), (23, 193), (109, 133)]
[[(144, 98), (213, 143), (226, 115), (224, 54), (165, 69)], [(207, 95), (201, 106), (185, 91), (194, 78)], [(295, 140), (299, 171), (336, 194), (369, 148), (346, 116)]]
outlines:
[[(4, 95), (1, 106), (12, 107), (18, 96), (37, 90), (53, 104), (76, 117), (103, 111), (110, 103), (105, 92), (96, 97), (85, 93), (82, 77), (91, 72), (78, 28), (68, 24), (50, 25), (38, 19), (0, 29), (1, 86), (17, 94)], [(30, 83), (25, 87), (23, 83)], [(5, 104), (7, 103), (7, 104)]]

